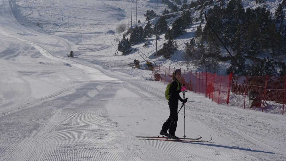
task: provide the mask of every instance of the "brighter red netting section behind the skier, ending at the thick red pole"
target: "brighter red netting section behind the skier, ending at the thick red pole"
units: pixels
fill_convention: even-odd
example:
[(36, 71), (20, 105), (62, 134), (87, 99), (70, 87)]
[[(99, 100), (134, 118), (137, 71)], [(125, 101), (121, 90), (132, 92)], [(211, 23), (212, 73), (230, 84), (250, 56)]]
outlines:
[[(169, 84), (176, 68), (159, 66), (155, 69), (154, 80)], [(232, 74), (216, 75), (207, 72), (192, 72), (182, 70), (180, 82), (185, 84), (187, 90), (208, 97), (218, 104), (229, 103), (229, 90)], [(153, 76), (153, 75), (152, 75)], [(152, 77), (151, 77), (152, 80)]]

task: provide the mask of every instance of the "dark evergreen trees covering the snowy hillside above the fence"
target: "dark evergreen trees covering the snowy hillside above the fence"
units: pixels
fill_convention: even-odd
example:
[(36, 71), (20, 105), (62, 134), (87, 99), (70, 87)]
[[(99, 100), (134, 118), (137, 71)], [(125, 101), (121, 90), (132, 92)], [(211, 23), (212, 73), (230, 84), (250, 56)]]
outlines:
[[(148, 45), (148, 37), (156, 34), (157, 27), (156, 39), (165, 33), (164, 38), (168, 40), (162, 48), (164, 57), (168, 59), (178, 48), (174, 39), (184, 35), (186, 29), (194, 21), (200, 22), (195, 37), (185, 44), (183, 56), (187, 66), (190, 63), (195, 63), (210, 72), (216, 72), (219, 62), (230, 61), (226, 74), (233, 71), (236, 75), (242, 75), (243, 73), (231, 57), (222, 56), (223, 46), (204, 22), (202, 15), (204, 7), (206, 7), (205, 3), (208, 3), (213, 6), (206, 13), (210, 25), (221, 37), (223, 43), (234, 53), (234, 58), (247, 75), (283, 76), (286, 74), (284, 62), (286, 56), (286, 0), (279, 4), (275, 13), (271, 13), (265, 7), (245, 9), (241, 0), (231, 0), (227, 5), (225, 1), (216, 4), (213, 4), (213, 1), (204, 0), (192, 1), (190, 4), (187, 4), (187, 1), (183, 1), (181, 4), (174, 1), (176, 5), (181, 5), (180, 8), (168, 0), (162, 2), (171, 8), (170, 11), (165, 9), (163, 14), (181, 11), (178, 18), (172, 21), (170, 27), (168, 27), (164, 16), (158, 17), (158, 22), (151, 25), (150, 20), (156, 17), (156, 13), (153, 10), (146, 11), (144, 16), (147, 23), (144, 28), (138, 25), (132, 29), (130, 40), (128, 40), (131, 44), (145, 42), (144, 45)], [(263, 3), (262, 0), (256, 2)], [(169, 3), (172, 3), (173, 6)], [(199, 17), (193, 18), (194, 16), (190, 12), (192, 8), (200, 13)], [(122, 52), (130, 50), (130, 45), (125, 38), (119, 42), (118, 50)]]

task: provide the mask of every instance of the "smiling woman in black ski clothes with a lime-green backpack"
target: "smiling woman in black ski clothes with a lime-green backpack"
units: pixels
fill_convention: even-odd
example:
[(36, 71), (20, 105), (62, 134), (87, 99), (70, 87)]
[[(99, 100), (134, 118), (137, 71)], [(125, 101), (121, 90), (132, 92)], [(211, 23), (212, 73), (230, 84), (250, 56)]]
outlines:
[[(186, 86), (182, 86), (181, 82), (179, 82), (181, 78), (181, 69), (176, 69), (173, 73), (173, 81), (170, 83), (169, 94), (170, 98), (168, 99), (170, 116), (166, 122), (164, 122), (162, 126), (162, 130), (160, 131), (160, 135), (168, 136), (169, 139), (178, 140), (179, 138), (175, 136), (177, 122), (178, 122), (178, 103), (179, 100), (183, 103), (187, 102), (187, 99), (182, 99), (179, 95), (180, 92), (186, 90)], [(167, 130), (169, 129), (169, 134)]]

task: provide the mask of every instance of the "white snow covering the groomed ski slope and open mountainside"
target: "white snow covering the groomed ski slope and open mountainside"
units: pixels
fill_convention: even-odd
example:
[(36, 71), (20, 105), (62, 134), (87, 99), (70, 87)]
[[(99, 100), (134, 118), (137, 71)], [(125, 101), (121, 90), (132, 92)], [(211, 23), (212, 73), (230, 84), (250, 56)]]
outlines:
[[(117, 47), (122, 38), (116, 27), (128, 23), (128, 2), (0, 1), (0, 160), (286, 160), (279, 105), (243, 109), (235, 95), (227, 107), (186, 93), (176, 136), (210, 142), (136, 138), (159, 135), (169, 109), (166, 84), (128, 65), (134, 59), (144, 64), (138, 53), (114, 56), (111, 42)], [(144, 22), (156, 1), (137, 6), (137, 21)], [(155, 58), (155, 39), (149, 40), (134, 47), (158, 64), (186, 68), (182, 59)], [(74, 58), (67, 57), (71, 50)]]

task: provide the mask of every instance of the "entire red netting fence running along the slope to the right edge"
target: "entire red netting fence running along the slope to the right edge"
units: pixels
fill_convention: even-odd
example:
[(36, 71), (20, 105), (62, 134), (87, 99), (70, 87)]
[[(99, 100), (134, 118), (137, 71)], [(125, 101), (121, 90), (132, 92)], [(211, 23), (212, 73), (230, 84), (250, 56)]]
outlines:
[[(153, 70), (151, 80), (161, 81), (164, 84), (172, 82), (172, 74), (177, 68), (156, 66)], [(180, 82), (185, 84), (187, 90), (193, 91), (202, 96), (212, 99), (217, 104), (226, 103), (229, 105), (230, 92), (237, 95), (243, 95), (246, 99), (249, 92), (257, 92), (257, 98), (260, 101), (255, 105), (261, 107), (262, 111), (267, 108), (265, 101), (274, 101), (285, 104), (286, 94), (286, 77), (273, 76), (257, 76), (257, 77), (242, 77), (235, 76), (233, 73), (229, 75), (217, 75), (216, 73), (208, 72), (193, 72), (181, 70), (182, 78)], [(154, 76), (154, 77), (153, 77)], [(154, 79), (153, 79), (154, 78)], [(244, 108), (245, 108), (244, 101)], [(251, 108), (251, 107), (250, 107)]]

